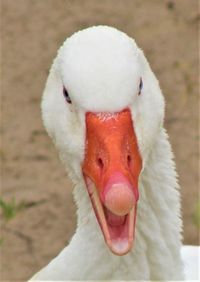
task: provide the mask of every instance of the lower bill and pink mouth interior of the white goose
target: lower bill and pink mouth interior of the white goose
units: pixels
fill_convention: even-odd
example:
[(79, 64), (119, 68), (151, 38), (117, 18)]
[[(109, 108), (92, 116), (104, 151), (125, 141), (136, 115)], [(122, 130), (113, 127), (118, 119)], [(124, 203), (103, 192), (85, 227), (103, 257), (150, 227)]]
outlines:
[(100, 200), (95, 184), (85, 177), (92, 206), (110, 250), (116, 255), (125, 255), (132, 247), (134, 239), (136, 203), (129, 213), (116, 215)]

